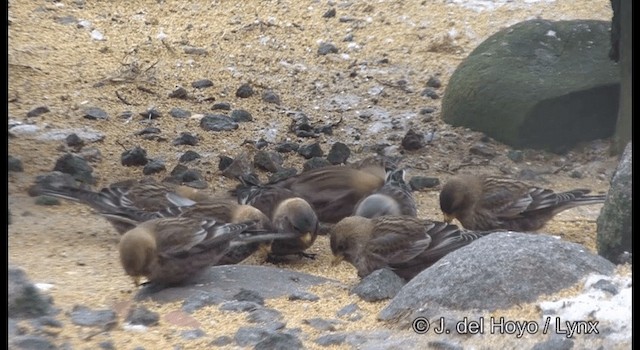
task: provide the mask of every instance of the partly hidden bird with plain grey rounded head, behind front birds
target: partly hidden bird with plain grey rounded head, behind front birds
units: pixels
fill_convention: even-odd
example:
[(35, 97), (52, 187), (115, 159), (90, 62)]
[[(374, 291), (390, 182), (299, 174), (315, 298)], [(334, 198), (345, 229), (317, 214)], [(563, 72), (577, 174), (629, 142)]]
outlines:
[(411, 195), (411, 188), (404, 180), (405, 170), (390, 170), (384, 185), (361, 199), (355, 207), (353, 215), (374, 218), (383, 215), (418, 215), (416, 202)]

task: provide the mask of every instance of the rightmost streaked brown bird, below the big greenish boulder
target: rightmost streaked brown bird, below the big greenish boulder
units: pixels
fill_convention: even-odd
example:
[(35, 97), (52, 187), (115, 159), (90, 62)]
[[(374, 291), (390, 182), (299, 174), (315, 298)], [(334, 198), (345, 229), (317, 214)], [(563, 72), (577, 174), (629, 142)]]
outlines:
[(446, 222), (457, 219), (470, 230), (532, 232), (564, 210), (605, 201), (606, 195), (590, 192), (554, 192), (518, 180), (464, 174), (449, 180), (439, 199)]

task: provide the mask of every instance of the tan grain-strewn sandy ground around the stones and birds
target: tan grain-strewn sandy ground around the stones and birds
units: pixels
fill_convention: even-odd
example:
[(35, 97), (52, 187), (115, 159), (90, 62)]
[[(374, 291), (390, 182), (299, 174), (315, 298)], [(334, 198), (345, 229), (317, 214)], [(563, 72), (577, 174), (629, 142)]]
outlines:
[[(433, 145), (405, 154), (402, 165), (409, 175), (439, 177), (442, 182), (455, 169), (465, 164), (469, 146), (482, 135), (465, 129), (451, 128), (439, 119), (440, 100), (420, 96), (426, 81), (437, 76), (443, 86), (457, 64), (492, 33), (511, 24), (531, 18), (610, 20), (609, 1), (541, 1), (525, 4), (513, 1), (492, 10), (465, 8), (456, 1), (150, 1), (83, 2), (32, 1), (9, 2), (9, 118), (35, 123), (46, 128), (89, 127), (106, 138), (96, 146), (102, 160), (92, 163), (98, 186), (126, 178), (142, 176), (142, 169), (120, 165), (123, 147), (139, 145), (151, 158), (162, 158), (170, 171), (178, 157), (188, 149), (203, 155), (199, 167), (204, 169), (210, 189), (222, 193), (236, 182), (220, 176), (218, 156), (251, 153), (245, 139), (257, 140), (264, 129), (278, 129), (277, 141), (298, 141), (287, 134), (288, 111), (303, 111), (314, 122), (325, 123), (343, 117), (343, 124), (333, 136), (322, 135), (318, 141), (325, 152), (336, 140), (347, 143), (353, 151), (351, 159), (367, 154), (367, 145), (377, 140), (357, 141), (350, 128), (366, 128), (358, 120), (357, 110), (331, 108), (327, 100), (343, 93), (363, 98), (360, 108), (373, 104), (395, 113), (417, 112), (424, 107), (435, 108), (434, 118), (416, 124), (422, 131), (437, 130), (442, 137)], [(335, 18), (323, 18), (335, 8)], [(340, 20), (344, 18), (346, 20)], [(76, 25), (86, 20), (88, 26)], [(64, 24), (69, 21), (71, 24)], [(105, 40), (92, 40), (95, 29)], [(353, 34), (354, 44), (343, 42)], [(318, 56), (320, 42), (333, 42), (338, 54)], [(204, 55), (187, 54), (184, 47), (206, 49)], [(375, 62), (386, 58), (389, 64)], [(366, 72), (358, 67), (368, 65)], [(349, 74), (356, 72), (354, 77)], [(191, 82), (211, 79), (214, 86), (204, 90), (191, 88)], [(398, 88), (405, 80), (410, 92)], [(258, 91), (249, 99), (235, 97), (243, 83), (251, 83)], [(100, 84), (98, 84), (100, 83)], [(96, 86), (96, 84), (100, 86)], [(170, 99), (167, 95), (183, 86), (192, 98)], [(384, 87), (384, 93), (372, 96), (372, 87)], [(276, 91), (282, 103), (277, 106), (263, 102), (259, 95), (266, 89)], [(192, 113), (210, 113), (213, 102), (229, 102), (232, 108), (250, 111), (255, 118), (233, 132), (213, 133), (199, 128), (196, 119), (175, 119), (168, 115), (173, 107)], [(26, 118), (34, 107), (46, 105), (50, 112)], [(110, 118), (91, 121), (82, 118), (86, 107), (100, 107)], [(124, 111), (135, 114), (155, 107), (163, 117), (148, 121), (135, 116), (127, 121), (118, 116)], [(133, 136), (146, 127), (157, 126), (169, 142), (144, 140)], [(189, 131), (200, 137), (195, 147), (173, 146), (171, 140)], [(393, 131), (402, 136), (406, 130)], [(301, 140), (308, 143), (312, 140)], [(399, 141), (389, 141), (399, 144)], [(118, 262), (118, 236), (111, 226), (91, 210), (81, 205), (63, 203), (60, 206), (36, 206), (26, 190), (36, 175), (53, 169), (55, 160), (64, 154), (63, 141), (38, 141), (21, 136), (9, 139), (9, 154), (22, 160), (25, 171), (9, 174), (9, 205), (12, 224), (9, 226), (9, 262), (24, 268), (33, 281), (49, 283), (47, 292), (55, 305), (63, 310), (60, 318), (65, 327), (57, 341), (74, 348), (95, 348), (111, 339), (116, 348), (135, 346), (162, 348), (181, 345), (198, 348), (219, 335), (233, 335), (244, 324), (244, 315), (227, 314), (215, 308), (205, 308), (193, 315), (207, 336), (202, 341), (187, 341), (179, 327), (163, 322), (146, 333), (135, 333), (117, 327), (108, 334), (89, 336), (90, 331), (73, 326), (65, 312), (73, 305), (91, 308), (126, 310), (135, 292)], [(510, 174), (528, 168), (548, 169), (542, 185), (557, 190), (588, 187), (606, 192), (609, 178), (617, 161), (607, 155), (607, 140), (580, 145), (566, 155), (527, 152), (524, 163), (515, 164), (502, 156), (489, 166), (466, 166), (465, 171), (497, 173), (508, 169)], [(498, 154), (508, 147), (493, 144)], [(302, 158), (289, 154), (285, 165), (301, 168)], [(572, 178), (572, 169), (583, 177)], [(162, 178), (167, 174), (161, 174)], [(265, 173), (261, 173), (266, 178)], [(417, 192), (419, 215), (439, 218), (437, 193), (439, 187)], [(584, 244), (595, 251), (595, 219), (599, 206), (578, 208), (559, 215), (545, 231)], [(311, 248), (315, 261), (302, 261), (283, 266), (290, 269), (336, 279), (350, 286), (358, 279), (348, 264), (329, 267), (331, 258), (326, 237)], [(249, 259), (244, 263), (260, 263)], [(366, 330), (379, 327), (375, 315), (386, 303), (366, 303), (349, 295), (347, 290), (324, 288), (313, 291), (325, 302), (296, 303), (286, 300), (268, 301), (268, 306), (285, 313), (288, 327), (301, 327), (305, 333), (314, 330), (301, 323), (310, 314), (333, 318), (344, 305), (357, 302), (367, 311), (358, 323), (341, 330)], [(154, 305), (152, 310), (166, 315), (180, 305)], [(122, 311), (125, 312), (125, 311)], [(520, 316), (535, 313), (535, 308), (514, 311)], [(123, 315), (124, 317), (124, 315)], [(524, 317), (524, 316), (522, 316)], [(522, 318), (520, 317), (520, 318)], [(310, 337), (309, 339), (314, 339)], [(309, 348), (317, 347), (305, 341)]]

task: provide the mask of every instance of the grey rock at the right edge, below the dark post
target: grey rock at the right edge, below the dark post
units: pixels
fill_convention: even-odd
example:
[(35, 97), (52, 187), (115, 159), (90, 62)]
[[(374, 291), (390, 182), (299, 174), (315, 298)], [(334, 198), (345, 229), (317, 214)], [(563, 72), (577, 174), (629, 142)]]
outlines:
[(631, 142), (620, 158), (607, 200), (598, 216), (598, 254), (613, 261), (623, 263), (621, 255), (631, 253), (631, 197), (632, 197), (632, 166)]

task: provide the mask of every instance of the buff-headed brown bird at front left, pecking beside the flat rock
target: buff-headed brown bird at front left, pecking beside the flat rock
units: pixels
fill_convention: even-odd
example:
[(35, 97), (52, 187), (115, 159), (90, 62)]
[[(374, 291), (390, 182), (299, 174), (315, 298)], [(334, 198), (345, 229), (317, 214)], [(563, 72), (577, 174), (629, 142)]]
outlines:
[(220, 223), (188, 217), (145, 221), (120, 238), (120, 262), (136, 286), (146, 278), (160, 286), (180, 284), (219, 263), (234, 246), (286, 234), (255, 230), (255, 223)]

